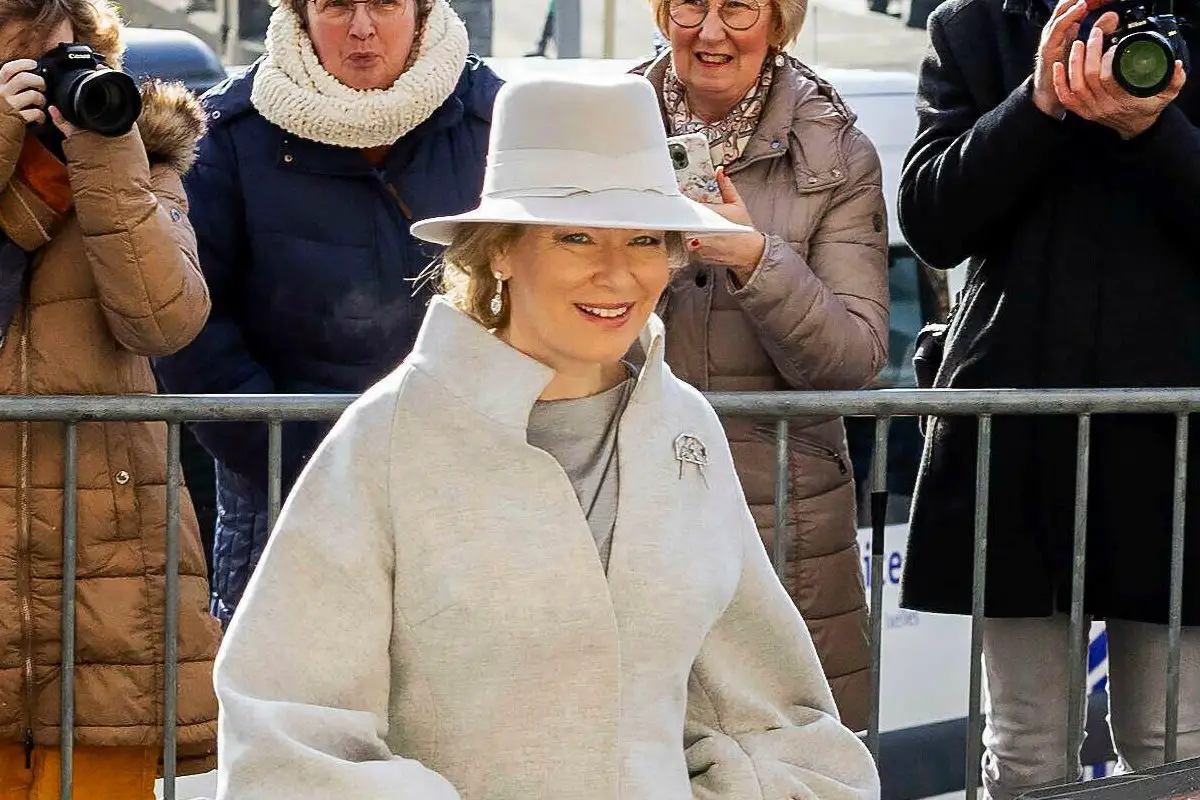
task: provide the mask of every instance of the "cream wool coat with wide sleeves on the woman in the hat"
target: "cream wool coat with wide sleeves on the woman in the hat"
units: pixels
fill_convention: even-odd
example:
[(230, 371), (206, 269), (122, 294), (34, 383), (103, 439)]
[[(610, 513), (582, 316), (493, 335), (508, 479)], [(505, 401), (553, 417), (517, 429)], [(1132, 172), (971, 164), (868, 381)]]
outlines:
[(878, 796), (720, 422), (656, 318), (643, 345), (606, 579), (526, 443), (552, 373), (433, 301), (305, 469), (229, 627), (218, 800)]

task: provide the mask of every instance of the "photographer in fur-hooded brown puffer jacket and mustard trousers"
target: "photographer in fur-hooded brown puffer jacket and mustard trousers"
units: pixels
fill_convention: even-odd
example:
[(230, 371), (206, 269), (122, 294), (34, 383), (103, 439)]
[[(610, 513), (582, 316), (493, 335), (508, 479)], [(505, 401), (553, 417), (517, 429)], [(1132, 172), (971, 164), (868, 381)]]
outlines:
[[(65, 44), (65, 47), (64, 47)], [(139, 96), (106, 0), (0, 0), (0, 392), (152, 393), (204, 325), (180, 85)], [(167, 431), (85, 422), (77, 450), (76, 800), (148, 800), (163, 727)], [(58, 798), (64, 426), (0, 423), (0, 799)], [(180, 774), (211, 769), (220, 628), (180, 494)]]

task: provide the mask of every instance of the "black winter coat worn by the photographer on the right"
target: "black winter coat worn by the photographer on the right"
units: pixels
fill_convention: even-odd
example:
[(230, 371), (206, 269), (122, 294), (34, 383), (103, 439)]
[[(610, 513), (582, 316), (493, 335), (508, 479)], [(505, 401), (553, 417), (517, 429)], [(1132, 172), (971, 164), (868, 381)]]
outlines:
[[(950, 0), (930, 18), (900, 222), (931, 266), (971, 261), (936, 385), (1198, 386), (1200, 80), (1130, 142), (1056, 121), (1031, 97), (1046, 16), (1039, 0)], [(1198, 31), (1184, 35), (1200, 53)], [(1200, 624), (1198, 433), (1193, 423), (1187, 625)], [(930, 428), (907, 608), (971, 612), (976, 438), (970, 417)], [(1069, 609), (1075, 445), (1074, 417), (995, 420), (989, 616)], [(1092, 421), (1090, 614), (1165, 622), (1174, 452), (1174, 417)]]

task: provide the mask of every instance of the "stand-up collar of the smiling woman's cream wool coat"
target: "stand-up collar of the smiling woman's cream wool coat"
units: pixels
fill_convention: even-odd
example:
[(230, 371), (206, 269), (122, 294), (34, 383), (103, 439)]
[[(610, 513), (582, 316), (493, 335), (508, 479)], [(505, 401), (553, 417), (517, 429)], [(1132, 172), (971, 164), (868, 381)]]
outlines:
[[(662, 396), (666, 366), (658, 317), (650, 315), (640, 342), (648, 355), (629, 401), (631, 407), (658, 403)], [(440, 296), (430, 302), (407, 361), (468, 407), (520, 431), (522, 438), (529, 413), (554, 377), (550, 367), (509, 347)]]

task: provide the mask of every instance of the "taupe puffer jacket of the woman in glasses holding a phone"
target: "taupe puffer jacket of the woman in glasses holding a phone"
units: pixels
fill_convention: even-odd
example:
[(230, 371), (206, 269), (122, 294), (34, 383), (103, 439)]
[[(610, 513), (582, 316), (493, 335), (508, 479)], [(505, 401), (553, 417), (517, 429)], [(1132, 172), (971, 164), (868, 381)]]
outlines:
[[(668, 58), (640, 68), (660, 95)], [(661, 307), (671, 368), (703, 391), (868, 386), (888, 355), (888, 228), (880, 160), (854, 115), (808, 67), (780, 56), (758, 128), (727, 172), (767, 249), (740, 288), (704, 264), (674, 276)], [(774, 425), (725, 427), (772, 552)], [(784, 583), (842, 721), (859, 730), (869, 649), (846, 431), (840, 419), (793, 420), (790, 431)]]

